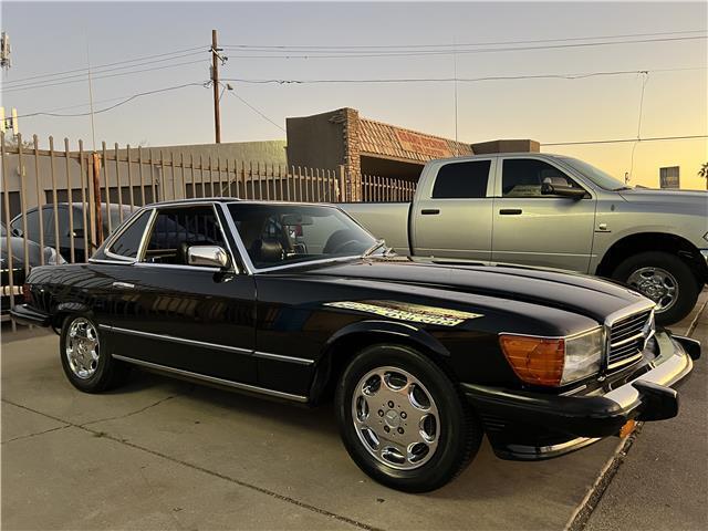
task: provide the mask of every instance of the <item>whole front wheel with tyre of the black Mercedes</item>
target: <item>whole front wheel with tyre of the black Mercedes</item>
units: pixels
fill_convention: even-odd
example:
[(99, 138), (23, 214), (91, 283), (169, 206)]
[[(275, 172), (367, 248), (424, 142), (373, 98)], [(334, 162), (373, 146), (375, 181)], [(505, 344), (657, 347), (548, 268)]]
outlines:
[(477, 454), (482, 429), (445, 372), (419, 352), (374, 345), (336, 389), (342, 440), (376, 481), (407, 492), (442, 487)]

